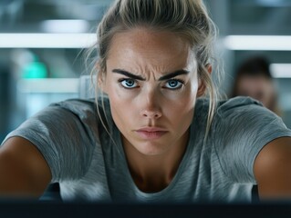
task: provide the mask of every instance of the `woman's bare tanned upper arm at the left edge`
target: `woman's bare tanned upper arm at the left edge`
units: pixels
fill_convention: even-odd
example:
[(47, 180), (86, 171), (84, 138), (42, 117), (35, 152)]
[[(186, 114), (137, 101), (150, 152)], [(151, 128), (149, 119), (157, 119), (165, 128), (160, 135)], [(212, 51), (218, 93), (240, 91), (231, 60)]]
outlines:
[(0, 147), (1, 197), (39, 197), (50, 180), (47, 162), (34, 144), (12, 137)]

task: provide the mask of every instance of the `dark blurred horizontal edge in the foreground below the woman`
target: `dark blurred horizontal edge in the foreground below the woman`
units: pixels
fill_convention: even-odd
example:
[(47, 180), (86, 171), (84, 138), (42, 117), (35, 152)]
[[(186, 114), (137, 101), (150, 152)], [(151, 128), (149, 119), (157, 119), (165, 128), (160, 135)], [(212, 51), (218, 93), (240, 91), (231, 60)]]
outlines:
[(114, 204), (1, 201), (0, 217), (291, 217), (291, 203)]

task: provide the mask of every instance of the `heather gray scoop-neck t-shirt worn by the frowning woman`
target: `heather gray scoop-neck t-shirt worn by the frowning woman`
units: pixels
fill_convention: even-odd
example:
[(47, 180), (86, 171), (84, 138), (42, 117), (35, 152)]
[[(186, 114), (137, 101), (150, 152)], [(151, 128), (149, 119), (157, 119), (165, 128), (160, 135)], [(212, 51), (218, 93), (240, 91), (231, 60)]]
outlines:
[(198, 99), (177, 173), (161, 192), (143, 193), (130, 176), (106, 99), (104, 106), (107, 128), (94, 99), (71, 99), (49, 105), (6, 139), (18, 135), (36, 145), (64, 201), (197, 203), (250, 202), (256, 155), (275, 138), (291, 136), (281, 118), (251, 98), (236, 97), (218, 104), (203, 143), (208, 101)]

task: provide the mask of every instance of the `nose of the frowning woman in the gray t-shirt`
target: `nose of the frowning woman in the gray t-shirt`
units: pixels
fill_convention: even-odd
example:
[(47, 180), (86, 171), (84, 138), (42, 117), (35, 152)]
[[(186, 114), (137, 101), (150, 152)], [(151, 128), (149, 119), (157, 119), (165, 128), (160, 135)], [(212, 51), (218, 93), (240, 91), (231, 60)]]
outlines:
[(147, 94), (141, 101), (141, 116), (149, 119), (161, 117), (161, 99), (158, 94)]

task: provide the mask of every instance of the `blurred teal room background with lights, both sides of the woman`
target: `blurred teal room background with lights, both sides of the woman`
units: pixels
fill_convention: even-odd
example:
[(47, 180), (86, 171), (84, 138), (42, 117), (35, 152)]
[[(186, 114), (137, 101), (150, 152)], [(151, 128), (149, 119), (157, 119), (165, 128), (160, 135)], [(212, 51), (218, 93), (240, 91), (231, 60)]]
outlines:
[[(79, 96), (88, 74), (82, 48), (111, 0), (0, 1), (0, 141), (52, 102)], [(271, 64), (282, 118), (291, 127), (291, 1), (204, 0), (220, 29), (217, 53), (229, 94), (239, 64), (254, 55)], [(93, 33), (93, 34), (92, 34)]]

